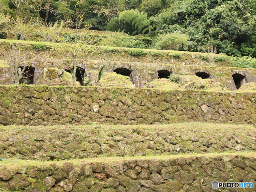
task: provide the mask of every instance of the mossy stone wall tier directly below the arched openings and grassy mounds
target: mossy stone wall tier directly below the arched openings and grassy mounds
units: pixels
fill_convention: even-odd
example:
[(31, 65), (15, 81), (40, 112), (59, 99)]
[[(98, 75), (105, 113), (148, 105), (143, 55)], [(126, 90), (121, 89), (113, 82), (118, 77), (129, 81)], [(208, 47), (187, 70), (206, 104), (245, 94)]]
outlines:
[(255, 93), (102, 87), (1, 86), (2, 125), (255, 124)]

